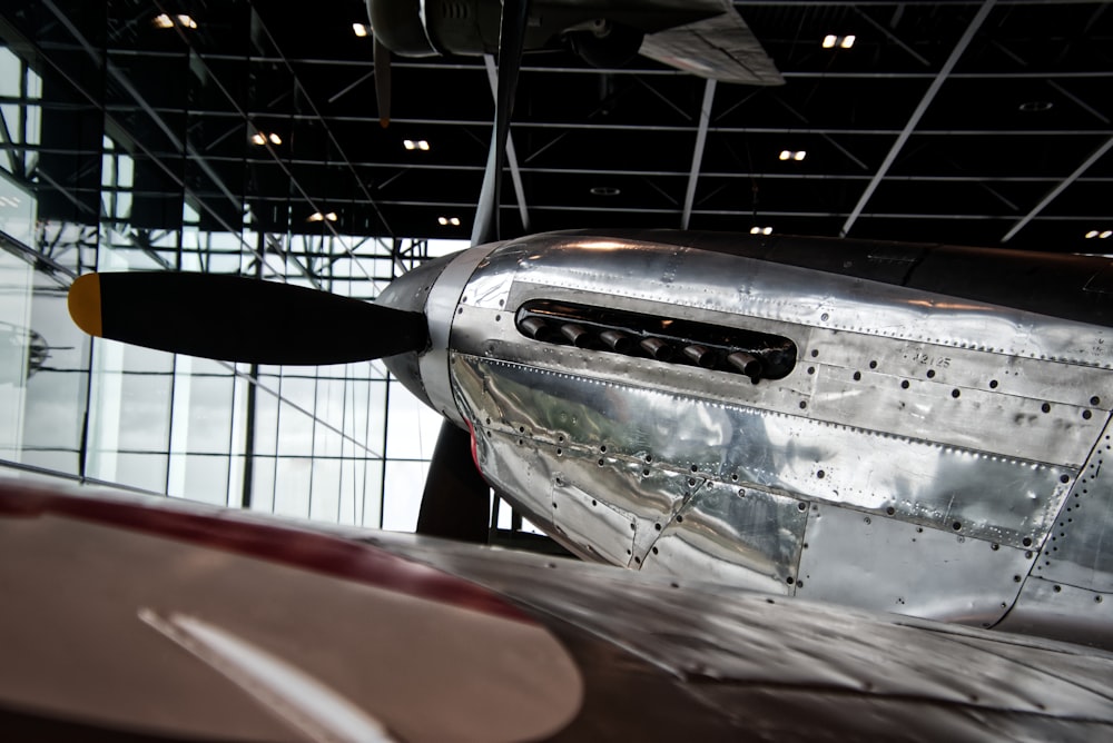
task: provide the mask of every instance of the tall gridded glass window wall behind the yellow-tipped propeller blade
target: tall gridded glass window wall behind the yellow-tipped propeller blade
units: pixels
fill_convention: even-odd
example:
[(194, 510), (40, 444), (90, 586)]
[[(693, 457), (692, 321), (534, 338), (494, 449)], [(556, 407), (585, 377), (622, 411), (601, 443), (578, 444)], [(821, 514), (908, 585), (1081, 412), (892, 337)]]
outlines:
[[(92, 339), (69, 319), (68, 287), (90, 270), (239, 274), (373, 299), (462, 247), (348, 219), (365, 185), (294, 71), (250, 33), (250, 6), (229, 2), (260, 60), (249, 79), (207, 56), (203, 34), (138, 28), (134, 2), (6, 18), (0, 475), (412, 529), (441, 417), (382, 364), (224, 364)], [(283, 145), (259, 146), (259, 130)], [(323, 205), (305, 195), (324, 191), (299, 181), (306, 158), (336, 164), (335, 220), (309, 219)]]

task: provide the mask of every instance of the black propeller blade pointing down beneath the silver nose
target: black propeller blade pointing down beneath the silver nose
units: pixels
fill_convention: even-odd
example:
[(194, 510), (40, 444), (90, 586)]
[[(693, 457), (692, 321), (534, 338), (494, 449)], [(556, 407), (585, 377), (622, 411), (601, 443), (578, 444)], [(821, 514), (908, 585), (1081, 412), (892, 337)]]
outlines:
[(491, 492), (472, 457), (466, 430), (445, 420), (425, 478), (417, 534), (486, 544)]

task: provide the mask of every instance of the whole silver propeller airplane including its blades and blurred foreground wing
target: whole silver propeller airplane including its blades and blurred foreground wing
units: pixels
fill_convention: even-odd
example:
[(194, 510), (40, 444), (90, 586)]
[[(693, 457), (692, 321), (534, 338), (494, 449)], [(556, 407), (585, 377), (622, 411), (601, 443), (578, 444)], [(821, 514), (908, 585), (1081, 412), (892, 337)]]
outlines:
[(1081, 646), (1111, 645), (1109, 261), (503, 241), (491, 192), (475, 247), (377, 304), (95, 274), (71, 314), (211, 358), (386, 358), (446, 419), (420, 531), (481, 538), (493, 486), (633, 569), (0, 481), (6, 740), (1109, 735), (1113, 653)]

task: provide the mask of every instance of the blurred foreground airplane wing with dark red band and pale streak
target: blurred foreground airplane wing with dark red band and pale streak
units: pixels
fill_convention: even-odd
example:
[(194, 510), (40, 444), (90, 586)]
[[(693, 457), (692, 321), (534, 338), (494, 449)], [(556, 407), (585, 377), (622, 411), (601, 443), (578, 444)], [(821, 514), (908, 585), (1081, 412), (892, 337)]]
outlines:
[[(0, 481), (11, 740), (1105, 740), (1113, 655)], [(99, 737), (98, 737), (99, 736)]]

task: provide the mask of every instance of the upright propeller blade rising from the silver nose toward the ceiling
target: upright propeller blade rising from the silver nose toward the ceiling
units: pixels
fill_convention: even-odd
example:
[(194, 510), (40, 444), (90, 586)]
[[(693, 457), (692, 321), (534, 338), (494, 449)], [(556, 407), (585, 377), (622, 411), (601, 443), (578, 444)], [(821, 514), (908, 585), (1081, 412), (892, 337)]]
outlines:
[(518, 71), (522, 63), (525, 22), (530, 12), (528, 0), (504, 0), (499, 29), (499, 90), (494, 103), (494, 132), (487, 151), (483, 188), (472, 225), (472, 245), (499, 239), (499, 205), (502, 204), (502, 164), (510, 137), (510, 115), (514, 109)]

